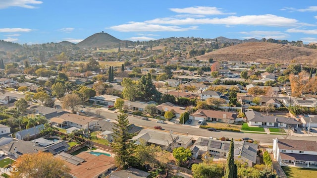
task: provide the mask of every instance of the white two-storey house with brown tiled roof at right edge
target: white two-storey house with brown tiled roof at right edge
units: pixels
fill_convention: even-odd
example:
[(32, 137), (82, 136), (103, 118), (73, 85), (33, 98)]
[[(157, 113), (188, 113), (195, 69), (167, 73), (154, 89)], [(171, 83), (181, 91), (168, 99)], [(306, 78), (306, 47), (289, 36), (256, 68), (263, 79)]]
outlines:
[(279, 165), (317, 166), (317, 141), (273, 139), (273, 157)]

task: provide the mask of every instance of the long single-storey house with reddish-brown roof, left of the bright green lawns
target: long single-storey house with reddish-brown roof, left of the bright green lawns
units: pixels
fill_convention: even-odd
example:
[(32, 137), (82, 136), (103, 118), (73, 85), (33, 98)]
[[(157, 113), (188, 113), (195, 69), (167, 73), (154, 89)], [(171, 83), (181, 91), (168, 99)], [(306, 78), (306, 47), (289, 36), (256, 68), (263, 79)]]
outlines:
[(194, 120), (218, 121), (225, 123), (234, 123), (235, 119), (237, 118), (236, 113), (202, 109), (197, 110), (191, 116)]

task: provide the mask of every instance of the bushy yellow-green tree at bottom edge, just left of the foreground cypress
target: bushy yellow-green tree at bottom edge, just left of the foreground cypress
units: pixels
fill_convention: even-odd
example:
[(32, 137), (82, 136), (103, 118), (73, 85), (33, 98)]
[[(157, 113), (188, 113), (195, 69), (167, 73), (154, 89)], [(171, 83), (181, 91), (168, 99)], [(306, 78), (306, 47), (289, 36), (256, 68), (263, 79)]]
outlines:
[(223, 169), (219, 164), (193, 164), (192, 172), (194, 178), (222, 178)]

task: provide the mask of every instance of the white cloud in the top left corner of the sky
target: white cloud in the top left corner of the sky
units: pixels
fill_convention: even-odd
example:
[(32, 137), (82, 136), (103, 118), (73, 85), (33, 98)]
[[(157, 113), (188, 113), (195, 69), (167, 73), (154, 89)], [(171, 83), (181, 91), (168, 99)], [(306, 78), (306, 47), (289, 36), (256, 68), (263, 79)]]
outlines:
[[(0, 9), (7, 7), (24, 7), (24, 8), (35, 8), (35, 4), (41, 4), (43, 1), (39, 0), (1, 0)], [(32, 5), (30, 5), (32, 4)]]

